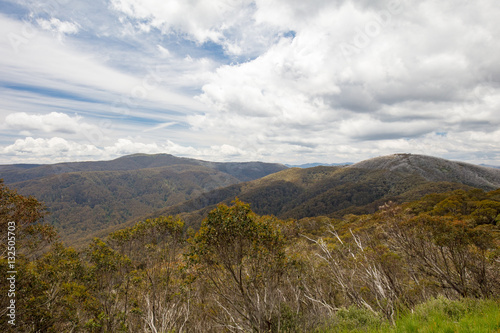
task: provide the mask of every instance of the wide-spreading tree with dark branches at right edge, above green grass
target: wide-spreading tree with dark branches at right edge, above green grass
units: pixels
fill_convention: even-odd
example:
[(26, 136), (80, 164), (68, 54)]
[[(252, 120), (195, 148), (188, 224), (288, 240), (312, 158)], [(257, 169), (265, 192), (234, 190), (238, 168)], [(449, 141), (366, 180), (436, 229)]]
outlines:
[(445, 294), (498, 295), (498, 237), (492, 225), (476, 227), (454, 216), (400, 211), (385, 231), (393, 251)]

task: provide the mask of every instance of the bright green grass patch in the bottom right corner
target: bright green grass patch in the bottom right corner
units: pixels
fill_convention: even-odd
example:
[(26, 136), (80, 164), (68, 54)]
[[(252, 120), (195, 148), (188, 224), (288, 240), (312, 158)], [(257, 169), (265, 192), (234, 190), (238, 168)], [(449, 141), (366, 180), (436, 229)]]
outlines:
[(349, 308), (339, 311), (335, 318), (315, 332), (500, 332), (500, 302), (477, 299), (452, 301), (439, 297), (420, 304), (413, 313), (401, 315), (394, 326), (367, 310)]

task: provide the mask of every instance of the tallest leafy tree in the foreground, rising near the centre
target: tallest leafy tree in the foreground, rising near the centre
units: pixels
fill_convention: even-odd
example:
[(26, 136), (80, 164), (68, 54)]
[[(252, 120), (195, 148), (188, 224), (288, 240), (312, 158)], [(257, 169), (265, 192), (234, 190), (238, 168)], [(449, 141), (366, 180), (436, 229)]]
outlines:
[(227, 329), (276, 327), (287, 266), (282, 224), (236, 199), (211, 211), (192, 240), (188, 258), (213, 290), (213, 319)]

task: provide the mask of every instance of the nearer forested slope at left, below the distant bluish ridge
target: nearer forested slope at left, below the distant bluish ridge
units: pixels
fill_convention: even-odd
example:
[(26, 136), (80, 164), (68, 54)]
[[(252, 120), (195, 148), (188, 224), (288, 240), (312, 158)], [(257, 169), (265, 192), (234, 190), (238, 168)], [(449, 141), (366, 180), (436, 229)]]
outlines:
[(175, 205), (238, 179), (200, 166), (133, 171), (73, 172), (13, 184), (47, 203), (46, 220), (65, 241), (88, 241), (89, 233)]

